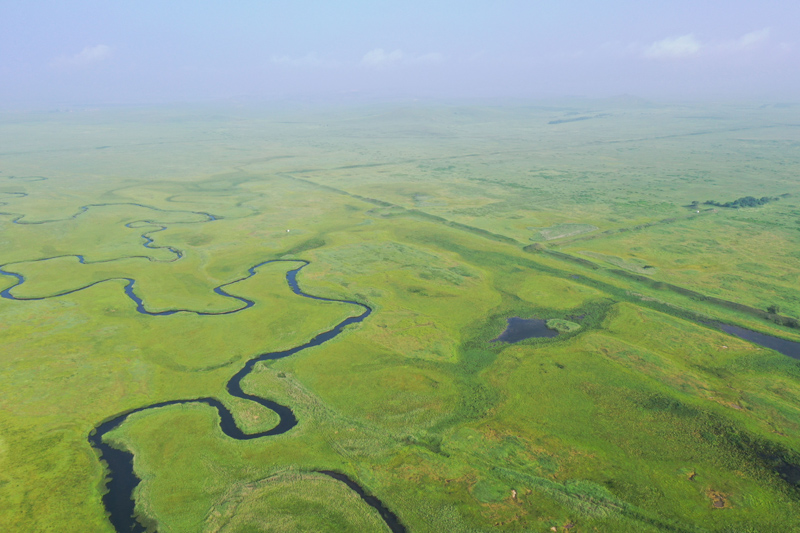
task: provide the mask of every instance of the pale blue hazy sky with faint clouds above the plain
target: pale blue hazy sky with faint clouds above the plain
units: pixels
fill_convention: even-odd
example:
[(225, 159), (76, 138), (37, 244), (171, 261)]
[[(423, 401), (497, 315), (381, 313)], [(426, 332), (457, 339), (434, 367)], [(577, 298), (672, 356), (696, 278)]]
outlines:
[(800, 1), (0, 0), (0, 106), (623, 93), (798, 100)]

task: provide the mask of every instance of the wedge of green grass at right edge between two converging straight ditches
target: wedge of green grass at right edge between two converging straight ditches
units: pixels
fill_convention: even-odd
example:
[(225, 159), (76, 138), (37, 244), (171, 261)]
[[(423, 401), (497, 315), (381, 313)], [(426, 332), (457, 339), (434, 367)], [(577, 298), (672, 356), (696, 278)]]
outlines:
[[(773, 208), (763, 209), (761, 216)], [(796, 228), (754, 224), (719, 213), (702, 222), (623, 233), (575, 243), (565, 250), (643, 262), (654, 268), (640, 273), (653, 279), (764, 310), (774, 304), (782, 313), (798, 317), (798, 244)]]

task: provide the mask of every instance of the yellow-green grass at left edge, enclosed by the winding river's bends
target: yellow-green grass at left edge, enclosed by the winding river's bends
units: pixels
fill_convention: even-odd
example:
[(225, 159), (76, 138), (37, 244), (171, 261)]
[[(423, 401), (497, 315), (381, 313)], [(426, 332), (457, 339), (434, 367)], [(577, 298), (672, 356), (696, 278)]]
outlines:
[[(86, 440), (95, 424), (158, 401), (203, 396), (224, 401), (225, 383), (247, 358), (301, 344), (358, 312), (348, 304), (291, 293), (284, 275), (294, 266), (261, 267), (256, 276), (236, 284), (256, 305), (213, 318), (140, 315), (123, 294), (122, 282), (62, 299), (0, 301), (9, 369), (2, 373), (7, 391), (2, 401), (3, 475), (9, 488), (3, 495), (24, 493), (53, 502), (49, 511), (30, 515), (25, 505), (8, 501), (3, 522), (46, 529), (43, 524), (58, 521), (82, 529), (88, 514), (98, 528), (105, 527), (98, 492), (101, 470)], [(234, 414), (236, 406), (231, 404)], [(77, 466), (68, 471), (46, 466), (63, 463), (67, 468), (73, 460)], [(64, 487), (64, 499), (48, 496), (56, 484)], [(74, 506), (86, 511), (73, 512)]]

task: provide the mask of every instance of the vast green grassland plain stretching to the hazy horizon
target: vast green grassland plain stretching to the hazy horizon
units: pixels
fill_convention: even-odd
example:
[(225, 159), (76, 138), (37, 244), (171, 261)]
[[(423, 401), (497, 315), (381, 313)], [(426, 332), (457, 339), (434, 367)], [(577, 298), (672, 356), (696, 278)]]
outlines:
[[(709, 324), (800, 340), (797, 113), (0, 114), (0, 268), (25, 278), (0, 299), (0, 529), (113, 531), (87, 437), (120, 413), (214, 397), (274, 426), (231, 376), (361, 312), (294, 294), (300, 260), (305, 293), (373, 313), (245, 377), (285, 434), (234, 440), (204, 404), (111, 431), (150, 531), (388, 531), (322, 470), (408, 531), (800, 528), (800, 363)], [(239, 309), (226, 283), (255, 305), (147, 316), (126, 279), (151, 312)], [(513, 316), (561, 333), (492, 342)]]

